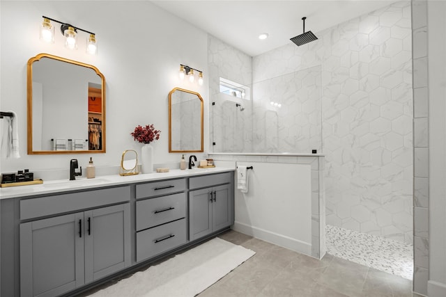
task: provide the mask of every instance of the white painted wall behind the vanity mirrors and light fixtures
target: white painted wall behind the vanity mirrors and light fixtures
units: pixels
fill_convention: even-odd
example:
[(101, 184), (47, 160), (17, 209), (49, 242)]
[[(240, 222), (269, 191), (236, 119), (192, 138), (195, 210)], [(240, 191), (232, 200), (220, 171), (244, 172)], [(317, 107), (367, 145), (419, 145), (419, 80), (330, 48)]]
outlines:
[[(154, 124), (162, 131), (153, 143), (155, 163), (180, 160), (168, 152), (168, 93), (174, 87), (199, 92), (208, 117), (208, 35), (164, 12), (148, 1), (1, 1), (1, 111), (15, 111), (19, 118), (20, 159), (1, 159), (1, 172), (23, 168), (66, 169), (79, 159), (86, 166), (90, 154), (26, 154), (26, 63), (40, 53), (62, 56), (95, 65), (105, 75), (107, 100), (107, 153), (91, 154), (98, 166), (118, 166), (123, 150), (141, 151), (130, 132), (137, 125)], [(72, 23), (96, 33), (98, 55), (63, 47), (60, 26), (55, 25), (55, 43), (39, 40), (42, 15)], [(82, 43), (83, 42), (83, 43)], [(180, 63), (203, 70), (198, 86), (178, 80)], [(208, 123), (205, 124), (208, 149)]]

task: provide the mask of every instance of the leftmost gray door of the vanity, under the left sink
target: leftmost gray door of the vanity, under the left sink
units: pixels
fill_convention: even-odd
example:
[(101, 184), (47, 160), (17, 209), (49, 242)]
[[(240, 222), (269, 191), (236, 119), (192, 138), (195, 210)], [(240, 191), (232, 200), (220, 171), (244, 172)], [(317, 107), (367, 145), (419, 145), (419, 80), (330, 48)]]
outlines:
[(20, 224), (20, 296), (58, 296), (84, 284), (84, 214)]

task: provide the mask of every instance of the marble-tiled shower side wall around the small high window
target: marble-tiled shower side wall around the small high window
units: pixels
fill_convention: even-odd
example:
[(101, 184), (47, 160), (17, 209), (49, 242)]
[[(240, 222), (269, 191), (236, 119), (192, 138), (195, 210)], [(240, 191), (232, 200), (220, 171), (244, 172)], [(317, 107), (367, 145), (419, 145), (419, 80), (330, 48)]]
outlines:
[[(249, 88), (252, 57), (208, 36), (210, 147), (213, 152), (252, 152), (252, 100), (220, 93), (220, 77)], [(245, 110), (240, 111), (236, 104)], [(215, 145), (213, 145), (215, 143)]]

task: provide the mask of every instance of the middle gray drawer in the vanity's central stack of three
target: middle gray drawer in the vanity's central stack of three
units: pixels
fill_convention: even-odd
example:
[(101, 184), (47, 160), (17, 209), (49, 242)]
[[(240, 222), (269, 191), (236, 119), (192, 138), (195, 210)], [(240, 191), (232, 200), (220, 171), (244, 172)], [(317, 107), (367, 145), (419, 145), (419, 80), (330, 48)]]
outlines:
[(137, 201), (137, 231), (185, 216), (186, 193)]

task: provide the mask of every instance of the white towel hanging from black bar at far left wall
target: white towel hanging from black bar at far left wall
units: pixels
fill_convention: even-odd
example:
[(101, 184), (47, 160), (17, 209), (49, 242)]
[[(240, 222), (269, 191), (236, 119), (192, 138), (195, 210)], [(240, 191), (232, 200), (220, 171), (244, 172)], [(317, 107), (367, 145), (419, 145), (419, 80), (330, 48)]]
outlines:
[(1, 151), (6, 158), (20, 158), (19, 154), (19, 129), (17, 127), (17, 114), (14, 111), (13, 117), (3, 117), (1, 129)]

